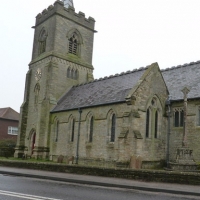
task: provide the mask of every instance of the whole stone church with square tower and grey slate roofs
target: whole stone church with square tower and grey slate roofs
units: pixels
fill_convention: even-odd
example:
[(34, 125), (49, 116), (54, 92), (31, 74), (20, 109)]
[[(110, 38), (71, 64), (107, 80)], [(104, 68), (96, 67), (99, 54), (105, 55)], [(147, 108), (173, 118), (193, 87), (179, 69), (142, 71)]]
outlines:
[(94, 27), (72, 0), (36, 16), (15, 157), (126, 168), (176, 160), (187, 87), (187, 145), (199, 162), (200, 62), (94, 79)]

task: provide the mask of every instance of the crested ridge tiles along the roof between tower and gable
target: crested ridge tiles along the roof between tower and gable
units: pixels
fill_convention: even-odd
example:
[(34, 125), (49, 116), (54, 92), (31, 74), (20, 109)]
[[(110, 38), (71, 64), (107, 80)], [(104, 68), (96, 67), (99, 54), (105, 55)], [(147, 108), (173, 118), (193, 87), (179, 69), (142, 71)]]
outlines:
[(133, 69), (132, 71), (128, 70), (126, 72), (121, 72), (120, 74), (117, 73), (115, 75), (100, 77), (100, 78), (94, 79), (92, 81), (88, 81), (88, 82), (84, 82), (84, 83), (80, 83), (80, 84), (74, 85), (73, 87), (78, 87), (78, 86), (81, 86), (81, 85), (87, 85), (87, 84), (90, 84), (90, 83), (93, 83), (93, 82), (103, 81), (103, 80), (115, 78), (115, 77), (118, 77), (118, 76), (123, 76), (123, 75), (126, 75), (126, 74), (131, 74), (131, 73), (139, 72), (139, 71), (148, 69), (149, 66), (150, 65), (147, 65), (146, 67), (140, 67), (138, 69), (136, 68), (136, 69)]

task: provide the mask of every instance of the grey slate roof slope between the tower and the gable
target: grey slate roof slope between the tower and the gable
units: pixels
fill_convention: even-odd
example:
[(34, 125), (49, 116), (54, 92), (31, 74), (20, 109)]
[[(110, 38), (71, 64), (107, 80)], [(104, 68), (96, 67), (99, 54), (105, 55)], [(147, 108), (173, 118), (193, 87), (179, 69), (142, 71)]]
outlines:
[(140, 68), (74, 86), (60, 99), (52, 112), (125, 102), (126, 95), (143, 75), (144, 69)]

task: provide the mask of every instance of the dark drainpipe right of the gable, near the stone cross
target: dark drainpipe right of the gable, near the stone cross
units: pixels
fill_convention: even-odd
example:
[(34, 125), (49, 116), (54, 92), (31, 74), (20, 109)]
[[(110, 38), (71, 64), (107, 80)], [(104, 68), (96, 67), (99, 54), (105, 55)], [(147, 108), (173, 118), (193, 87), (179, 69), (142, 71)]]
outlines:
[(167, 154), (166, 154), (166, 161), (167, 161), (167, 169), (169, 169), (169, 139), (170, 139), (170, 116), (171, 116), (171, 101), (170, 96), (166, 101), (166, 105), (168, 107), (167, 110), (167, 119), (168, 119), (168, 126), (167, 126)]

